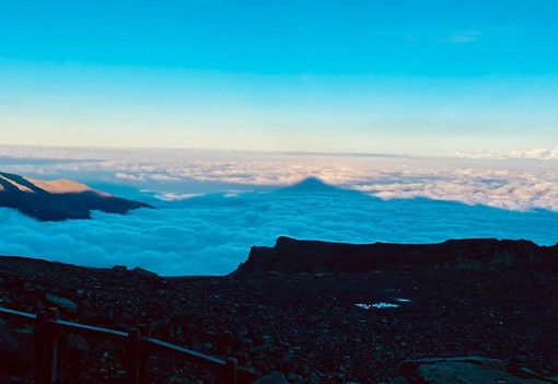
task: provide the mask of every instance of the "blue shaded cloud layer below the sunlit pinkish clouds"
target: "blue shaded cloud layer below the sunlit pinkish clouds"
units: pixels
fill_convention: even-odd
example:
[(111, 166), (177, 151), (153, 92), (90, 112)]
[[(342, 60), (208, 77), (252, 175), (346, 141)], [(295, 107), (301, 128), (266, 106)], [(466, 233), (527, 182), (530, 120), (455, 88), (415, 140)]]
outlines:
[[(395, 188), (397, 189), (397, 188)], [(357, 191), (209, 194), (127, 216), (42, 223), (0, 209), (0, 254), (78, 265), (141, 266), (161, 275), (223, 275), (253, 245), (279, 235), (371, 243), (460, 237), (558, 240), (558, 212), (508, 211), (427, 198), (384, 200)]]

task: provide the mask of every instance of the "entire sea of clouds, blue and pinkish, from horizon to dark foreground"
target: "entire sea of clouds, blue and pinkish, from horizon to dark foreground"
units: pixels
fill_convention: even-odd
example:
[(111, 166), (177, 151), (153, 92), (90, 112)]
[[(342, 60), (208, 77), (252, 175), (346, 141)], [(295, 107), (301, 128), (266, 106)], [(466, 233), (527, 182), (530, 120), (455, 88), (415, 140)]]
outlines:
[[(518, 152), (520, 153), (520, 152)], [(558, 159), (0, 147), (0, 170), (152, 203), (37, 222), (0, 209), (0, 254), (161, 275), (224, 275), (279, 235), (352, 243), (558, 241)], [(291, 188), (315, 176), (319, 184)]]

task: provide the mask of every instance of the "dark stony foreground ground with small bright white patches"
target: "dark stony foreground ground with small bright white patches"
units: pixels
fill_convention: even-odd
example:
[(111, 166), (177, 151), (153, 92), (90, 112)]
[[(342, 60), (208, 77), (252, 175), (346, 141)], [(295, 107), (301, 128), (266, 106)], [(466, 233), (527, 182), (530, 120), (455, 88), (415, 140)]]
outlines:
[[(153, 337), (235, 357), (257, 374), (280, 371), (290, 383), (395, 383), (405, 360), (470, 356), (558, 375), (558, 275), (534, 264), (161, 278), (0, 257), (0, 301), (32, 313), (58, 306), (62, 319), (115, 329), (149, 325)], [(30, 382), (31, 330), (0, 325), (4, 382)], [(114, 344), (69, 335), (59, 354), (59, 383), (125, 381), (123, 348)], [(213, 380), (159, 354), (149, 379)]]

